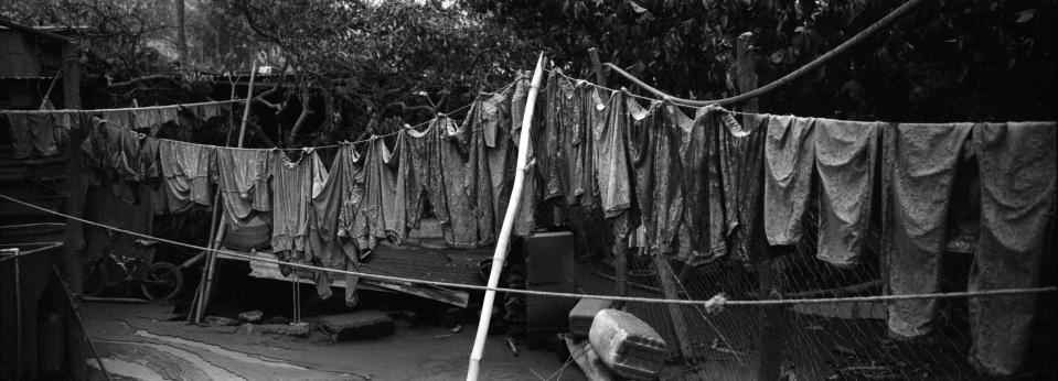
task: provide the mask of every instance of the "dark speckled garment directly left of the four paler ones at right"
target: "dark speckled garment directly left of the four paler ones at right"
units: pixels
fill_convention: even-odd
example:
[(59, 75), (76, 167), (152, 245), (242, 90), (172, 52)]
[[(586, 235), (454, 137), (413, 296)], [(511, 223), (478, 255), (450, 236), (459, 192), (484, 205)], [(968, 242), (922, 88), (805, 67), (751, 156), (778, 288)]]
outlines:
[[(728, 253), (740, 261), (758, 261), (768, 252), (763, 232), (765, 140), (768, 116), (747, 115), (740, 124), (730, 113), (722, 116), (724, 128), (720, 157), (724, 173), (726, 217), (734, 220), (728, 232)], [(730, 225), (730, 224), (729, 224)]]

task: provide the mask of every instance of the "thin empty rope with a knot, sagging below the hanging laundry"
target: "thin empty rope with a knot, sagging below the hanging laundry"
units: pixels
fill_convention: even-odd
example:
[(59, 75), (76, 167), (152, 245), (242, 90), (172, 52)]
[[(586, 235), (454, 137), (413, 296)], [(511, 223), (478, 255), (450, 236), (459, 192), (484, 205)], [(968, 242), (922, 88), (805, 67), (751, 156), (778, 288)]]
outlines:
[(25, 203), (20, 199), (10, 197), (8, 195), (0, 194), (0, 198), (7, 199), (9, 202), (33, 208), (40, 211), (44, 211), (51, 215), (64, 217), (83, 224), (88, 224), (92, 226), (100, 227), (104, 229), (109, 229), (111, 231), (117, 231), (126, 233), (133, 237), (139, 237), (143, 239), (149, 239), (157, 242), (168, 243), (178, 247), (184, 247), (189, 249), (194, 249), (196, 251), (207, 251), (224, 254), (232, 258), (244, 259), (248, 261), (258, 261), (266, 263), (282, 264), (291, 268), (298, 268), (303, 270), (312, 271), (323, 271), (334, 274), (343, 275), (355, 275), (360, 277), (376, 280), (376, 281), (388, 281), (397, 283), (418, 283), (425, 285), (432, 285), (439, 287), (450, 287), (450, 289), (463, 289), (463, 290), (474, 290), (474, 291), (494, 291), (494, 292), (505, 292), (512, 294), (525, 294), (525, 295), (536, 295), (536, 296), (548, 296), (548, 297), (566, 297), (566, 298), (594, 298), (602, 301), (613, 301), (613, 302), (633, 302), (633, 303), (650, 303), (650, 304), (680, 304), (680, 305), (702, 305), (709, 313), (716, 314), (723, 311), (726, 306), (767, 306), (767, 305), (794, 305), (794, 304), (832, 304), (832, 303), (855, 303), (855, 302), (888, 302), (888, 301), (909, 301), (909, 300), (927, 300), (927, 298), (957, 298), (957, 297), (984, 297), (984, 296), (1001, 296), (1001, 295), (1017, 295), (1017, 294), (1043, 294), (1043, 293), (1052, 293), (1058, 292), (1058, 286), (1049, 287), (1025, 287), (1025, 289), (1002, 289), (1002, 290), (981, 290), (981, 291), (965, 291), (965, 292), (953, 292), (953, 293), (932, 293), (932, 294), (912, 294), (912, 295), (878, 295), (878, 296), (855, 296), (855, 297), (826, 297), (826, 298), (804, 298), (804, 300), (765, 300), (765, 301), (729, 301), (727, 296), (723, 293), (713, 296), (709, 300), (665, 300), (656, 297), (637, 297), (637, 296), (613, 296), (613, 295), (592, 295), (592, 294), (573, 294), (573, 293), (558, 293), (558, 292), (548, 292), (548, 291), (535, 291), (535, 290), (516, 290), (516, 289), (504, 289), (504, 287), (488, 287), (482, 285), (473, 284), (461, 284), (461, 283), (450, 283), (450, 282), (439, 282), (439, 281), (427, 281), (413, 277), (404, 276), (393, 276), (393, 275), (380, 275), (363, 273), (356, 271), (348, 270), (336, 270), (320, 268), (311, 264), (300, 264), (292, 262), (282, 262), (277, 259), (271, 258), (260, 258), (255, 255), (247, 255), (236, 251), (222, 250), (222, 249), (210, 249), (191, 243), (184, 243), (179, 241), (173, 241), (160, 237), (153, 237), (150, 235), (139, 233), (135, 231), (125, 230), (121, 228), (108, 226), (105, 224), (90, 221), (84, 218), (70, 216), (62, 214), (52, 209), (36, 206), (34, 204)]

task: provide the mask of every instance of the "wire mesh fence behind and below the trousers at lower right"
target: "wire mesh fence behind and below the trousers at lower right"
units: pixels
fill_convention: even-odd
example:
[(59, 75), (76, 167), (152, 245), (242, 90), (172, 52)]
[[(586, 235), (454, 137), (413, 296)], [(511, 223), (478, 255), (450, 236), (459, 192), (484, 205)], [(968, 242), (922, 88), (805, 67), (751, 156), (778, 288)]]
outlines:
[[(549, 220), (545, 205), (544, 216)], [(938, 317), (933, 333), (915, 340), (898, 339), (889, 334), (885, 301), (881, 237), (872, 229), (865, 259), (854, 269), (838, 269), (820, 261), (816, 254), (819, 232), (817, 205), (804, 217), (803, 239), (797, 247), (772, 248), (779, 269), (774, 283), (787, 305), (769, 314), (767, 305), (725, 308), (718, 314), (703, 305), (676, 305), (663, 308), (656, 304), (630, 302), (626, 311), (640, 317), (662, 335), (671, 355), (662, 379), (757, 379), (761, 361), (771, 356), (781, 380), (973, 380), (993, 379), (968, 360), (972, 346), (969, 297), (938, 297)], [(585, 216), (589, 218), (585, 218)], [(543, 218), (542, 218), (543, 217)], [(564, 224), (574, 232), (591, 230), (601, 221), (590, 214), (567, 211)], [(876, 224), (877, 225), (877, 224)], [(1054, 236), (1054, 235), (1051, 235)], [(589, 239), (589, 241), (591, 241)], [(1051, 238), (1054, 241), (1054, 238)], [(595, 238), (589, 247), (612, 247), (610, 237)], [(681, 241), (685, 247), (686, 241)], [(1052, 243), (1051, 243), (1052, 244)], [(1052, 246), (1054, 247), (1054, 246)], [(669, 297), (661, 277), (664, 270), (656, 261), (630, 249), (628, 295)], [(678, 257), (678, 255), (676, 255)], [(950, 259), (949, 259), (950, 257)], [(761, 298), (761, 274), (751, 263), (724, 257), (702, 265), (686, 265), (669, 259), (680, 300), (706, 300), (724, 293), (733, 301)], [(942, 275), (943, 293), (964, 293), (972, 254), (945, 257)], [(587, 294), (615, 294), (613, 266), (588, 257), (577, 263), (578, 286)], [(1054, 255), (1044, 263), (1044, 285), (1054, 285)], [(1003, 295), (995, 297), (1020, 297)], [(819, 303), (819, 298), (830, 302)], [(867, 301), (859, 301), (866, 298)], [(875, 298), (875, 301), (870, 301)], [(797, 303), (804, 300), (805, 303)], [(1058, 367), (1047, 359), (1058, 358), (1055, 294), (1038, 298), (1039, 307), (1023, 371), (1018, 378), (1055, 379)], [(811, 302), (811, 303), (809, 303)], [(774, 309), (772, 309), (774, 311)], [(685, 331), (676, 325), (682, 315)], [(770, 329), (766, 325), (771, 325)], [(1005, 335), (1005, 333), (993, 333)], [(771, 337), (762, 337), (770, 335)]]

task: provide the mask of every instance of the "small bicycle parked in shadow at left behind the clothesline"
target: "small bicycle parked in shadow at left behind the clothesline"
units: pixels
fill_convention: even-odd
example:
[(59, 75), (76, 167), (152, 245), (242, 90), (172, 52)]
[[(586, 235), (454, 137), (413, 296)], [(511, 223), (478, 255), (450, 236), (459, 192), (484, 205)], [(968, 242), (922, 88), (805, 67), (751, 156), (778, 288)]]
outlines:
[[(137, 247), (149, 247), (154, 243), (154, 241), (136, 240)], [(111, 272), (121, 279), (115, 281)], [(169, 300), (183, 286), (183, 274), (180, 273), (180, 268), (172, 263), (147, 263), (142, 258), (122, 255), (108, 244), (103, 249), (103, 257), (93, 264), (88, 276), (85, 277), (85, 294), (100, 295), (126, 282), (139, 283), (140, 291), (151, 301)]]

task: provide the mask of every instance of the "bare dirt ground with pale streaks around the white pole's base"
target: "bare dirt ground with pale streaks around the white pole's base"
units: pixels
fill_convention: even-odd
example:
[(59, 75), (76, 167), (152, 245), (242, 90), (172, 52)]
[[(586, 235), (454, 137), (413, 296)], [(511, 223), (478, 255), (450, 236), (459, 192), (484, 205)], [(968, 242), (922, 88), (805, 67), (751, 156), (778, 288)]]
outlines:
[[(173, 315), (167, 303), (84, 303), (82, 308), (116, 379), (463, 380), (475, 331), (474, 326), (456, 334), (439, 326), (413, 328), (397, 320), (391, 336), (331, 342), (320, 333), (296, 338), (168, 322)], [(555, 352), (523, 347), (512, 356), (504, 338), (489, 337), (482, 380), (585, 380), (576, 364), (563, 367)], [(95, 361), (89, 359), (89, 366)]]

